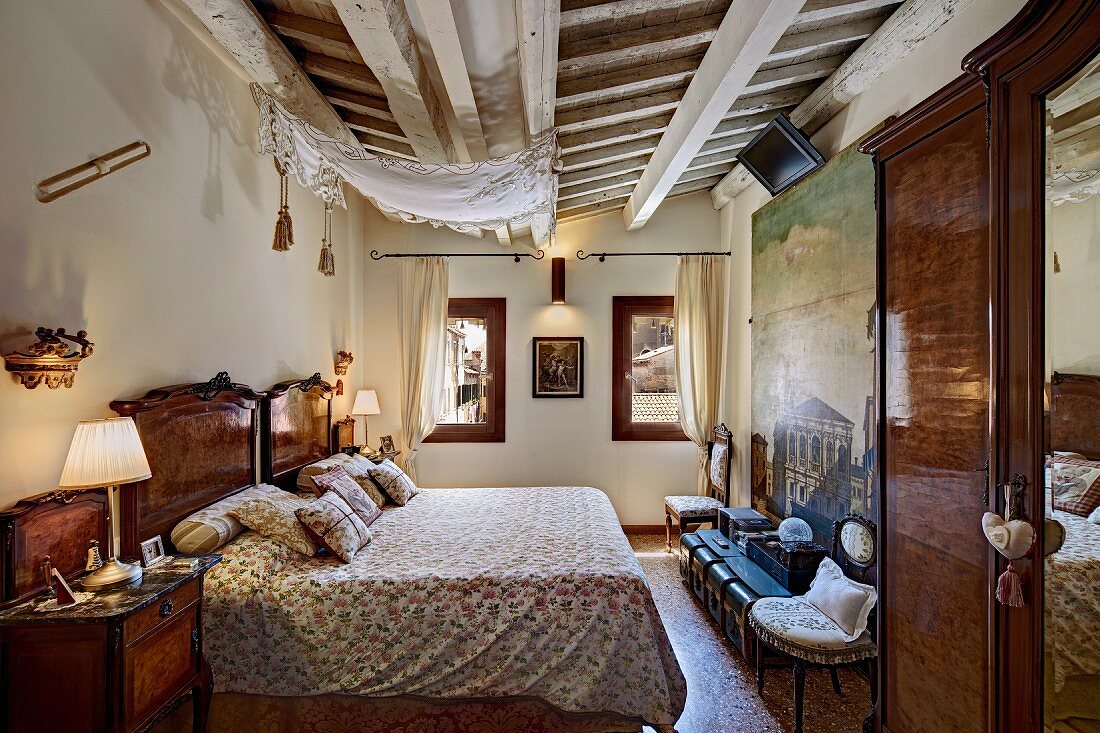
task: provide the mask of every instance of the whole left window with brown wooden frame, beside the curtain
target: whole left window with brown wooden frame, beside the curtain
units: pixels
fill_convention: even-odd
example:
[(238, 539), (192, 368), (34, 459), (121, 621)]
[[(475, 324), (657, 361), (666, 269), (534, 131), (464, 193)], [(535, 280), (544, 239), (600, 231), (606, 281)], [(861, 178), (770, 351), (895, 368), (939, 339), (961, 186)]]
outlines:
[(443, 415), (425, 442), (504, 442), (505, 299), (451, 298)]

